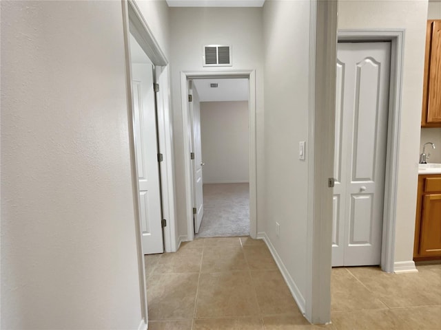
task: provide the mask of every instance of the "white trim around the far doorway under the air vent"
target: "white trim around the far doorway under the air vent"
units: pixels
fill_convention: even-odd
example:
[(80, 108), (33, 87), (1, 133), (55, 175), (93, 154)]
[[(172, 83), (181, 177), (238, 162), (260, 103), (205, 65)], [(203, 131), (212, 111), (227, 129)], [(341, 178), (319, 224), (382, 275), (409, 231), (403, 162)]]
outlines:
[(255, 70), (219, 72), (181, 72), (181, 107), (183, 115), (183, 144), (185, 170), (185, 206), (187, 209), (187, 240), (194, 239), (192, 202), (192, 164), (190, 162), (190, 118), (188, 109), (187, 80), (198, 78), (247, 78), (249, 80), (249, 234), (257, 236), (257, 190), (256, 190), (256, 72)]

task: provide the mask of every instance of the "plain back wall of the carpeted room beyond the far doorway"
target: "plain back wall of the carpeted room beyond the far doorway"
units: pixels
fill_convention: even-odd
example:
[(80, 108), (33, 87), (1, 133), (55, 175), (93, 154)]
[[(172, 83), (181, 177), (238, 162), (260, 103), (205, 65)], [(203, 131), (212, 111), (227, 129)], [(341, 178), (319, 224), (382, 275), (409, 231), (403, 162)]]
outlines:
[(248, 102), (201, 102), (204, 184), (249, 182)]

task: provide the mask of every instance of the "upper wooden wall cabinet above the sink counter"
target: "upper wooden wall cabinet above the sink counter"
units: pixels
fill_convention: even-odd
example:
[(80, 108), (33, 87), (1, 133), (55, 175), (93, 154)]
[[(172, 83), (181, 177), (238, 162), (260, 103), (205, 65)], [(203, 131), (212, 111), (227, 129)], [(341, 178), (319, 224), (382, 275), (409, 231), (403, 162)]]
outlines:
[(441, 19), (427, 21), (422, 127), (441, 127)]

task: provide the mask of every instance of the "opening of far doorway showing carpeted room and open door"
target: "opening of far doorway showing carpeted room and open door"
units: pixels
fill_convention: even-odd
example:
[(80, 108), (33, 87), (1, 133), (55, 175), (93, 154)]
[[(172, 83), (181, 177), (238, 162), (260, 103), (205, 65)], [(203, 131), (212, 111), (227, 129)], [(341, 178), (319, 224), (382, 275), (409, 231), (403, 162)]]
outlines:
[(249, 82), (189, 84), (196, 238), (249, 235)]

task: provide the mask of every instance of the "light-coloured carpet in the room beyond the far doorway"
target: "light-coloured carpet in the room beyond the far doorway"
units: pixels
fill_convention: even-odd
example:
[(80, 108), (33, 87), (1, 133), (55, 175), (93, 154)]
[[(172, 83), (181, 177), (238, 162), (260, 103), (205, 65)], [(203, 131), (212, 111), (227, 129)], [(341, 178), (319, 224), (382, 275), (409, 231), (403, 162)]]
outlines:
[(203, 196), (196, 237), (249, 235), (249, 184), (204, 184)]

